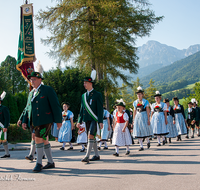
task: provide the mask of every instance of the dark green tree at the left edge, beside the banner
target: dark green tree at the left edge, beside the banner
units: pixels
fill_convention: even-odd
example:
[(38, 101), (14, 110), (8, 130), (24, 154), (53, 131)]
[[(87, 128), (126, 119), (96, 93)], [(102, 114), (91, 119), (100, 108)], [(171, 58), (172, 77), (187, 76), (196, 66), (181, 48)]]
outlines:
[(16, 69), (16, 59), (8, 55), (6, 59), (1, 62), (1, 68), (5, 71), (3, 82), (7, 83), (7, 91), (12, 94), (27, 91), (27, 82), (21, 76), (21, 73)]

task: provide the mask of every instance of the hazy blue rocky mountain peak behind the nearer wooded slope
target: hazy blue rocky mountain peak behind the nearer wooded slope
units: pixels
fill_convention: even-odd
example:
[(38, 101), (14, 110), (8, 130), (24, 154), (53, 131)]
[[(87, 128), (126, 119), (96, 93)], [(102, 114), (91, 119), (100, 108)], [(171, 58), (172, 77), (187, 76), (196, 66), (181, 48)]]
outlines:
[(142, 78), (157, 69), (186, 58), (198, 51), (200, 51), (200, 44), (192, 45), (188, 49), (179, 50), (157, 41), (148, 41), (146, 44), (138, 47), (137, 56), (139, 57), (138, 64), (140, 68), (138, 74), (133, 75), (133, 78)]

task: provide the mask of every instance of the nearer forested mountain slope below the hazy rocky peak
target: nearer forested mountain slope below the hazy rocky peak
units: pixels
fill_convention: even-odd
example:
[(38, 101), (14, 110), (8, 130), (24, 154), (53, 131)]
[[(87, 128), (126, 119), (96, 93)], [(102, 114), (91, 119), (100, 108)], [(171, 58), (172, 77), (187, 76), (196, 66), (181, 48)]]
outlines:
[(199, 81), (200, 51), (141, 78), (141, 83), (144, 87), (148, 86), (150, 79), (155, 80), (155, 85), (166, 85), (181, 80), (185, 80), (188, 83)]

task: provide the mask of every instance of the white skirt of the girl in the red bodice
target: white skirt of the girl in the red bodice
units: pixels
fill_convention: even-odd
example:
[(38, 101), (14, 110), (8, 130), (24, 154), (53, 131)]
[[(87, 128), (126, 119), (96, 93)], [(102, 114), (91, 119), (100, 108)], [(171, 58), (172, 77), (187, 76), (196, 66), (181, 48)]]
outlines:
[(122, 132), (125, 123), (117, 123), (114, 129), (112, 144), (115, 146), (128, 146), (132, 144), (132, 139), (128, 128)]

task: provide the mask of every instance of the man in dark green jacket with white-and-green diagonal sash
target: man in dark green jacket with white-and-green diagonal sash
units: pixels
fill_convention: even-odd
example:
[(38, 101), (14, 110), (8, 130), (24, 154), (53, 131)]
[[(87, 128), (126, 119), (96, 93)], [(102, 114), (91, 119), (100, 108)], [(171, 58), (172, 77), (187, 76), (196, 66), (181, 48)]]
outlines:
[[(95, 136), (99, 130), (98, 124), (101, 129), (103, 128), (103, 98), (100, 92), (93, 89), (93, 80), (91, 77), (84, 79), (84, 87), (87, 92), (82, 95), (77, 127), (79, 128), (82, 122), (86, 123), (88, 146), (87, 153), (85, 158), (82, 159), (82, 162), (89, 163), (89, 161), (100, 160)], [(94, 149), (95, 155), (92, 159), (89, 159), (92, 148)]]

